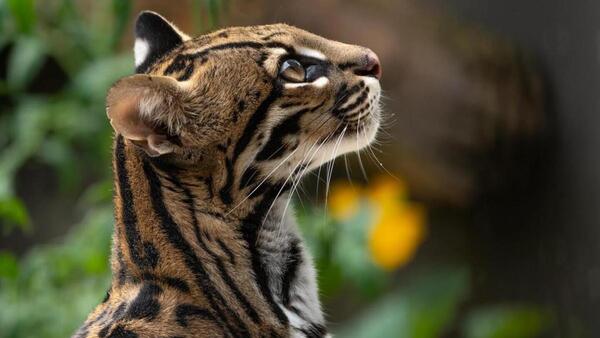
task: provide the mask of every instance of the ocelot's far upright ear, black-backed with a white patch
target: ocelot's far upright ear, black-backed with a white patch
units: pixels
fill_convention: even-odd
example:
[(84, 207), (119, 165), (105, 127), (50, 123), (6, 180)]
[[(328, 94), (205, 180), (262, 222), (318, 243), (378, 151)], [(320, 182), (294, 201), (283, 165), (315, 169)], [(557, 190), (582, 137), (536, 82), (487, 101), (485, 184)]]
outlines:
[(155, 12), (140, 13), (135, 22), (135, 71), (144, 73), (160, 57), (190, 37)]

